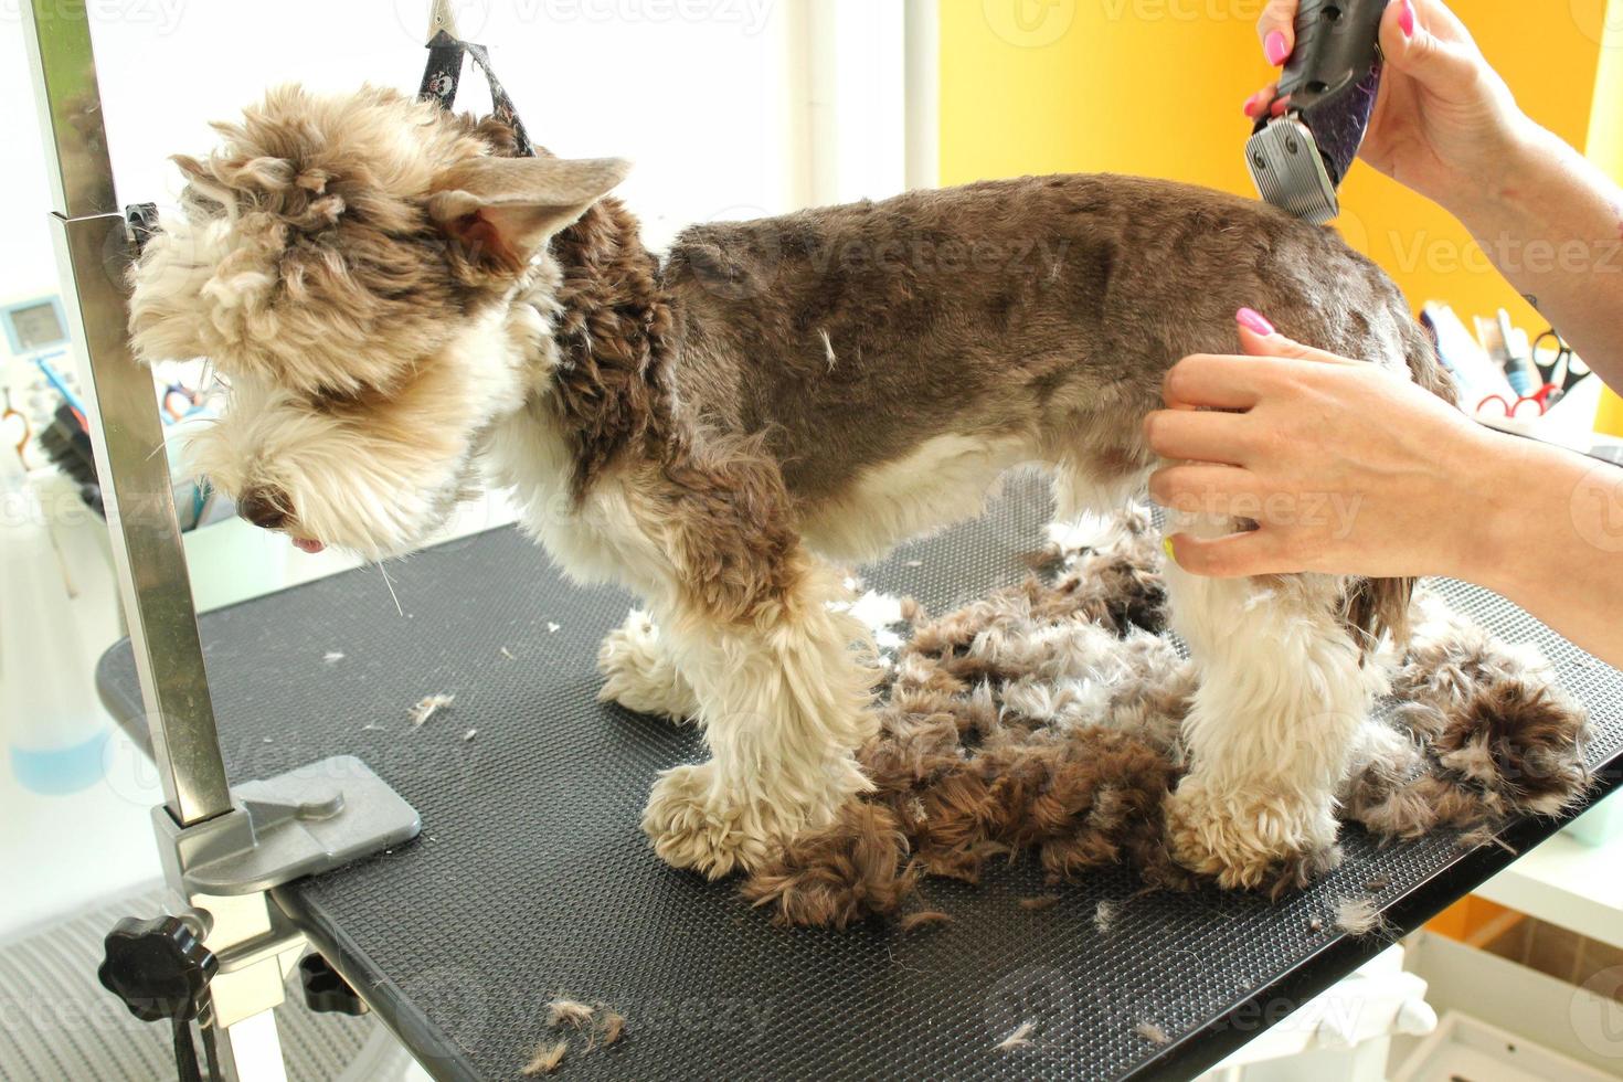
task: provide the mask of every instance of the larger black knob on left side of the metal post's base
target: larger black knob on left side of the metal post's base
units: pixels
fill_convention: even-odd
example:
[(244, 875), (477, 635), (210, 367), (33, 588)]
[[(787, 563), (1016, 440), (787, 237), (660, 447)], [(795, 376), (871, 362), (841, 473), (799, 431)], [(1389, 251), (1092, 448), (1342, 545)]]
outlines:
[(190, 1020), (203, 1009), (219, 959), (175, 917), (125, 917), (107, 933), (102, 986), (143, 1022)]

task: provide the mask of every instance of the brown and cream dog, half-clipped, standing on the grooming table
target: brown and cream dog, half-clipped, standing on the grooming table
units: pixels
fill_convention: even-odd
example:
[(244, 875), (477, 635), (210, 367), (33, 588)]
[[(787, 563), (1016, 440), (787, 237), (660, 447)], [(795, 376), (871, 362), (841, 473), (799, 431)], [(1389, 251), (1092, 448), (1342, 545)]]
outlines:
[[(1233, 313), (1446, 396), (1402, 295), (1336, 234), (1160, 180), (1061, 175), (698, 225), (664, 258), (615, 159), (388, 89), (271, 91), (177, 157), (182, 213), (131, 268), (146, 362), (206, 357), (229, 406), (193, 446), (248, 521), (307, 550), (409, 552), (479, 485), (581, 582), (646, 613), (602, 644), (605, 698), (693, 719), (643, 829), (719, 878), (820, 827), (867, 779), (867, 629), (841, 566), (980, 513), (1039, 462), (1061, 517), (1157, 467), (1167, 368), (1233, 352)], [(1206, 535), (1248, 524), (1173, 513)], [(1255, 524), (1253, 524), (1255, 526)], [(1412, 582), (1198, 579), (1173, 857), (1263, 884), (1334, 848), (1380, 691), (1363, 655)]]

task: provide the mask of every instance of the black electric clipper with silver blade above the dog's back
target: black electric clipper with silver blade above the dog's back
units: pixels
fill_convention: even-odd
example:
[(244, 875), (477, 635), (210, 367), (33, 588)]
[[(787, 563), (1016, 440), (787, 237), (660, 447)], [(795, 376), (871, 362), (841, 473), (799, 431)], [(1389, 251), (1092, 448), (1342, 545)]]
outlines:
[(1264, 200), (1310, 222), (1341, 213), (1336, 190), (1352, 169), (1381, 88), (1381, 15), (1388, 0), (1302, 0), (1297, 45), (1279, 79), (1282, 117), (1264, 115), (1245, 144)]

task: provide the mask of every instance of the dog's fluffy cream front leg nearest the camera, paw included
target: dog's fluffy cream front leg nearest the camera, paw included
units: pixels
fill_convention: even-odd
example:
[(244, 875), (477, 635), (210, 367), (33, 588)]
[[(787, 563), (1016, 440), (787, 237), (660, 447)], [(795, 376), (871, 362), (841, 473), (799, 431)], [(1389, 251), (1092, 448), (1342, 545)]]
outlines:
[(683, 590), (661, 633), (698, 701), (711, 761), (665, 771), (643, 829), (669, 863), (719, 878), (750, 869), (868, 788), (855, 749), (875, 730), (867, 638), (829, 608), (839, 576), (799, 548), (745, 605)]

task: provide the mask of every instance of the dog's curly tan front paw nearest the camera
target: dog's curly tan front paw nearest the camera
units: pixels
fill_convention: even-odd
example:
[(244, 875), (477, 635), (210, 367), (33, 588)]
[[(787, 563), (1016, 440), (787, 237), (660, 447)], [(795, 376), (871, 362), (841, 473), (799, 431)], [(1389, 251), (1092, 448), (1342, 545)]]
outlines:
[(712, 771), (703, 762), (661, 774), (643, 813), (643, 832), (667, 865), (721, 879), (781, 853), (786, 837), (773, 829), (773, 816), (758, 801), (717, 796)]

